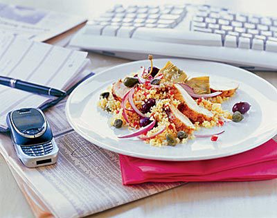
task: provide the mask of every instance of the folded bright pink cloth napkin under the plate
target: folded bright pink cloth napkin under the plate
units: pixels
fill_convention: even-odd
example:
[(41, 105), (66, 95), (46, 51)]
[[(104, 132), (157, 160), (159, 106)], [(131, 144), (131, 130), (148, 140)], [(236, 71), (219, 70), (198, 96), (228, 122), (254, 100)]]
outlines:
[(277, 143), (204, 161), (154, 161), (120, 154), (123, 185), (174, 181), (258, 181), (277, 178)]

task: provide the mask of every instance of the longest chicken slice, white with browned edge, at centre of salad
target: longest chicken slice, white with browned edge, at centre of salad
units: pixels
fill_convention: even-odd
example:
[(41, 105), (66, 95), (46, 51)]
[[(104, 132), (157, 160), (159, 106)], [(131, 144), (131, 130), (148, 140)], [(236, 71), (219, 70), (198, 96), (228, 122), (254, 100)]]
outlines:
[(181, 104), (178, 106), (181, 113), (184, 113), (184, 115), (194, 122), (204, 122), (204, 120), (211, 121), (213, 119), (213, 113), (197, 105), (195, 100), (191, 98), (183, 87), (179, 84), (174, 84), (174, 87), (175, 99), (181, 101)]

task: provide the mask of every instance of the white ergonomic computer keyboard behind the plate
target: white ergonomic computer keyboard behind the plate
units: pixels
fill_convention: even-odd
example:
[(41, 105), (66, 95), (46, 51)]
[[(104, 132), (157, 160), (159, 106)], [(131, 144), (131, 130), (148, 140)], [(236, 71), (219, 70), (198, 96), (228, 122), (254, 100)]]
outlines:
[(116, 5), (89, 21), (71, 46), (132, 60), (151, 53), (276, 70), (277, 17), (206, 5)]

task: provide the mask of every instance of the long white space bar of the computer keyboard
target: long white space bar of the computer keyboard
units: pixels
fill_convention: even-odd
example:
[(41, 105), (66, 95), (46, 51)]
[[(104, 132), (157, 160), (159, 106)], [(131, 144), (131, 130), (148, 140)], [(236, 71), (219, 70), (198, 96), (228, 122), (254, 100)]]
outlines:
[[(204, 28), (201, 28), (204, 30)], [(211, 29), (210, 29), (211, 30)], [(159, 33), (159, 34), (157, 34)], [(222, 46), (221, 36), (213, 33), (195, 34), (193, 32), (180, 32), (175, 29), (164, 28), (137, 28), (132, 35), (134, 39), (148, 39), (157, 42), (170, 42), (175, 44), (195, 44), (203, 46)]]

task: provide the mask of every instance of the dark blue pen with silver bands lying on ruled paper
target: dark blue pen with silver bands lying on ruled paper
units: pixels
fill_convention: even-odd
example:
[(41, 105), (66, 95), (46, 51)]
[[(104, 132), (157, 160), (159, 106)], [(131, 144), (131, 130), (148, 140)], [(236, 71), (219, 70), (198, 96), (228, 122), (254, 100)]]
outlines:
[(51, 87), (44, 87), (39, 84), (26, 82), (22, 80), (16, 80), (16, 79), (4, 77), (4, 76), (0, 76), (0, 84), (3, 84), (4, 86), (7, 86), (7, 87), (12, 87), (15, 89), (20, 89), (31, 93), (37, 93), (37, 94), (42, 94), (46, 96), (61, 97), (66, 95), (66, 92), (62, 90), (53, 89)]

